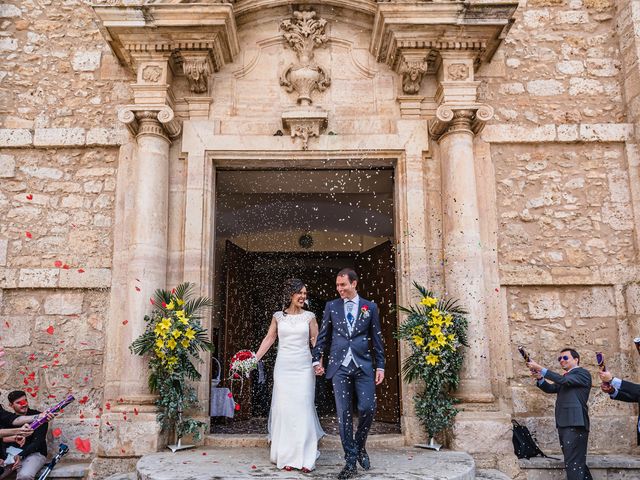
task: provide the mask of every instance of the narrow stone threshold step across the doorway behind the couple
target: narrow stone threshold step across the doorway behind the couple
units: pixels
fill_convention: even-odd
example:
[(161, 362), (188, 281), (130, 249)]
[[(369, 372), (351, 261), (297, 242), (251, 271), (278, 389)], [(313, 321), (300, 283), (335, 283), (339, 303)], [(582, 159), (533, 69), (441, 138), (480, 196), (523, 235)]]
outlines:
[[(204, 444), (207, 447), (256, 447), (267, 448), (269, 442), (267, 436), (263, 434), (210, 434), (206, 435)], [(320, 440), (322, 448), (341, 448), (339, 435), (326, 435)], [(404, 437), (400, 434), (369, 435), (367, 437), (367, 448), (400, 448), (404, 446)]]

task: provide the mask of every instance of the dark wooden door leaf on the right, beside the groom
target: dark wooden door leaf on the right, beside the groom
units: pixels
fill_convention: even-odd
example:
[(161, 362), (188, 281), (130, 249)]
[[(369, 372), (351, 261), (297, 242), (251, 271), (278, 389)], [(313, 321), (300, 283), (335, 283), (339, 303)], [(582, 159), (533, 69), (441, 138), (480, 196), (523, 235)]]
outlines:
[(364, 298), (376, 302), (380, 310), (380, 324), (385, 347), (385, 379), (376, 387), (376, 420), (397, 423), (400, 421), (400, 383), (398, 371), (397, 313), (392, 312), (396, 303), (396, 269), (393, 245), (387, 241), (356, 258), (356, 272), (360, 277), (358, 292)]

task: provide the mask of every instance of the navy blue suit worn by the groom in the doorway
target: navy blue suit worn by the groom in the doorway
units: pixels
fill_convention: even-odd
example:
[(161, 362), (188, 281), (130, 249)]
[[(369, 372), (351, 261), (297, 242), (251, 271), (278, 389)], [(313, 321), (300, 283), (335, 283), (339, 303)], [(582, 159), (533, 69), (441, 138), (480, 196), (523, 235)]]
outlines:
[[(384, 344), (375, 303), (360, 297), (355, 310), (355, 322), (351, 332), (345, 318), (344, 301), (341, 298), (327, 302), (322, 316), (318, 341), (313, 349), (313, 361), (320, 360), (329, 350), (327, 378), (332, 380), (336, 400), (336, 413), (340, 425), (340, 439), (347, 465), (355, 465), (365, 450), (367, 435), (376, 409), (375, 368), (384, 369)], [(373, 344), (373, 355), (369, 347)], [(353, 361), (342, 365), (351, 348)], [(358, 430), (353, 437), (353, 398), (358, 403)]]

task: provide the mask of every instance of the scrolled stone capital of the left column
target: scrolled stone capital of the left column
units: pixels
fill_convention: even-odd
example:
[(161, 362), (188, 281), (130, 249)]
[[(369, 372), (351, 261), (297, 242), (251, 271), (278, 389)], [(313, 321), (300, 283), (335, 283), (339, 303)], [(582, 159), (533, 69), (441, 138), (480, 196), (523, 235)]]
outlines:
[(118, 110), (118, 120), (136, 137), (156, 135), (170, 140), (182, 130), (175, 112), (168, 105), (126, 105)]

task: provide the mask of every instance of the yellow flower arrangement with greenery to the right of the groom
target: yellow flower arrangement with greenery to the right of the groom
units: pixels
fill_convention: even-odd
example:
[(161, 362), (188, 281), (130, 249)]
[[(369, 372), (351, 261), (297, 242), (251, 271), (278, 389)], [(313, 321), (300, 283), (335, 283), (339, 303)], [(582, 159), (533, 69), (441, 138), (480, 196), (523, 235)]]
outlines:
[(450, 428), (458, 413), (450, 392), (460, 383), (462, 346), (467, 346), (467, 312), (456, 300), (439, 299), (418, 283), (413, 285), (421, 300), (408, 308), (398, 307), (407, 318), (396, 337), (411, 347), (402, 366), (404, 379), (424, 382), (424, 390), (414, 400), (416, 415), (433, 438)]

